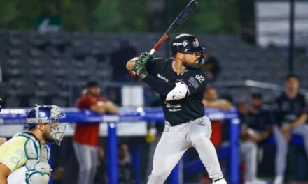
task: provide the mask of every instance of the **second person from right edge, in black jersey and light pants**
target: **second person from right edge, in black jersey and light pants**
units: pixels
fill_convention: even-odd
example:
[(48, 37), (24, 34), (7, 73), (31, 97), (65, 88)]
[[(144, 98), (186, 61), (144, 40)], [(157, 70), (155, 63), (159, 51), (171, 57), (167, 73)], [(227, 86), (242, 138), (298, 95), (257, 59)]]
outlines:
[[(260, 93), (253, 93), (251, 110), (246, 114), (246, 120), (241, 122), (241, 158), (246, 165), (245, 184), (266, 184), (257, 179), (258, 143), (267, 139), (272, 133), (274, 117), (271, 112), (262, 108), (263, 98)], [(243, 108), (243, 107), (241, 107)], [(241, 109), (241, 111), (243, 111)]]

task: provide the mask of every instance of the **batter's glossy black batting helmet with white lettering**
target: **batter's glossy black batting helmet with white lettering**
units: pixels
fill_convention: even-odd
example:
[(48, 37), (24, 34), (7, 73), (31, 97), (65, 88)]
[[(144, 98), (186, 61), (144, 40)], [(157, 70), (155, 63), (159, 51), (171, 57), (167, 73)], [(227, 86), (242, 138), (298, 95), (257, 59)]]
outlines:
[(204, 47), (199, 45), (198, 38), (190, 34), (180, 34), (176, 36), (171, 44), (172, 56), (174, 56), (176, 52), (202, 52), (204, 49)]

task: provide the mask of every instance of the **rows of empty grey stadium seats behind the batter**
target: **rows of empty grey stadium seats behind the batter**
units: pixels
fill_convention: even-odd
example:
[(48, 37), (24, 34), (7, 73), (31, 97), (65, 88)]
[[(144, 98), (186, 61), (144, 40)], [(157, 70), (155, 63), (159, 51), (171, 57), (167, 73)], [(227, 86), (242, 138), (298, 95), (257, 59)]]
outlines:
[[(0, 66), (6, 94), (5, 107), (36, 103), (69, 105), (69, 84), (95, 78), (110, 81), (109, 54), (121, 40), (130, 40), (146, 52), (160, 33), (47, 33), (0, 31)], [(218, 81), (252, 79), (282, 84), (288, 58), (279, 49), (264, 49), (229, 35), (199, 35), (200, 43), (221, 63)], [(165, 43), (166, 44), (166, 43)], [(166, 46), (166, 45), (165, 45)], [(167, 57), (164, 45), (155, 56)], [(123, 66), (125, 67), (125, 66)], [(307, 56), (295, 56), (295, 71), (308, 88)]]

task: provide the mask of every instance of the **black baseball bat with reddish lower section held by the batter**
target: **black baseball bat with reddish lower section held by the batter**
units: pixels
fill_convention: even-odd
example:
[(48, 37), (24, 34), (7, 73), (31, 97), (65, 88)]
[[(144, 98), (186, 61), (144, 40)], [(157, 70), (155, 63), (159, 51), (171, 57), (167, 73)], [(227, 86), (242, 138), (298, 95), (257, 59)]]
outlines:
[[(198, 2), (196, 0), (192, 0), (192, 1), (190, 1), (190, 3), (188, 3), (186, 8), (184, 8), (181, 11), (180, 15), (178, 17), (176, 17), (176, 20), (174, 20), (174, 22), (172, 22), (171, 26), (169, 26), (169, 28), (164, 33), (164, 35), (160, 38), (158, 43), (156, 43), (156, 45), (153, 47), (153, 49), (151, 49), (151, 51), (150, 51), (151, 55), (153, 55), (154, 52), (160, 47), (160, 45), (162, 45), (162, 43), (165, 42), (165, 40), (167, 40), (167, 38), (169, 38), (169, 36), (171, 36), (172, 33), (174, 33), (174, 31), (176, 31), (176, 29), (178, 29), (179, 26), (181, 26), (181, 24), (183, 24), (183, 22), (193, 12), (193, 10), (195, 10), (195, 8), (197, 8), (197, 6), (198, 6)], [(130, 72), (130, 77), (135, 77), (135, 76), (136, 76), (136, 72), (134, 71), (134, 68), (133, 68), (132, 71)]]

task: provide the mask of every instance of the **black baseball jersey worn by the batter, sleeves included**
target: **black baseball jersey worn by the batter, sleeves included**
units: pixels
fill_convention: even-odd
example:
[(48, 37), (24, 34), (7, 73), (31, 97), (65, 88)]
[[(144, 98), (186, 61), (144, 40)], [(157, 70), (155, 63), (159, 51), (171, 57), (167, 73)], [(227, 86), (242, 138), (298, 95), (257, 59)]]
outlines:
[(160, 94), (165, 118), (172, 126), (204, 116), (202, 98), (207, 86), (207, 75), (201, 69), (186, 70), (178, 76), (173, 61), (173, 58), (153, 59), (146, 64), (146, 70), (155, 79), (170, 84), (182, 82), (188, 88), (188, 94), (181, 100), (165, 101), (167, 95)]

